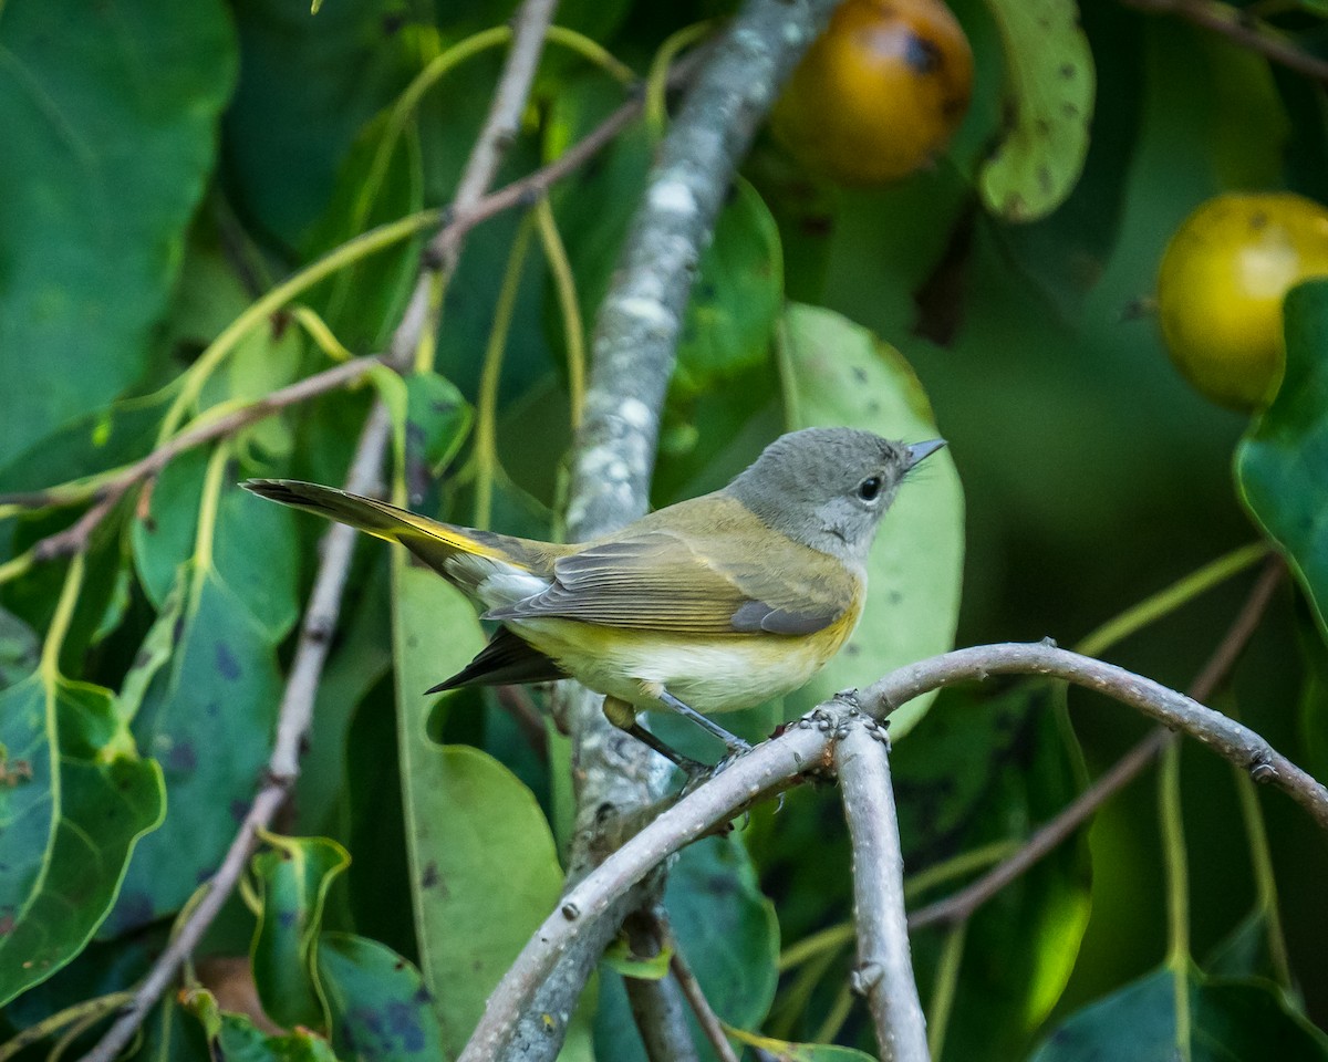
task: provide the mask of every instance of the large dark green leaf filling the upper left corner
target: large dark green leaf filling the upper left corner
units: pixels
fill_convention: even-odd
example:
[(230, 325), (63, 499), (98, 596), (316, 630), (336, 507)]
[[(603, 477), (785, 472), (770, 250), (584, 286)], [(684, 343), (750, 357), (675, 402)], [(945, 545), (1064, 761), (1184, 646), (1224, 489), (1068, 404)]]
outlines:
[(25, 398), (0, 417), (0, 454), (13, 454), (142, 372), (236, 64), (219, 0), (12, 0), (4, 37), (0, 377)]

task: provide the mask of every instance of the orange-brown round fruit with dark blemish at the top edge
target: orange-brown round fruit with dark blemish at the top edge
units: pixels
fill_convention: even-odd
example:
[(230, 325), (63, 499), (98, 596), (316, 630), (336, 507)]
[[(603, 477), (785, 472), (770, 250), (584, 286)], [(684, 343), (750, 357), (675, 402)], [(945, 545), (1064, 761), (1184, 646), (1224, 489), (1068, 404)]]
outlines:
[(845, 0), (774, 106), (776, 138), (845, 185), (928, 163), (968, 110), (973, 54), (939, 0)]

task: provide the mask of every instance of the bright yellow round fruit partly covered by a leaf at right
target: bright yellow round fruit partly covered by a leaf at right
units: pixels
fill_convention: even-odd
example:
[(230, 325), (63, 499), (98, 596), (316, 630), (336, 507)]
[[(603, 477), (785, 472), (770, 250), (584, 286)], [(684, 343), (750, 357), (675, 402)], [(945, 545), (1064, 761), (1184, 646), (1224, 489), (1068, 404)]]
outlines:
[(1282, 380), (1282, 299), (1328, 275), (1328, 210), (1289, 192), (1218, 195), (1171, 236), (1158, 316), (1171, 360), (1224, 406), (1266, 405)]

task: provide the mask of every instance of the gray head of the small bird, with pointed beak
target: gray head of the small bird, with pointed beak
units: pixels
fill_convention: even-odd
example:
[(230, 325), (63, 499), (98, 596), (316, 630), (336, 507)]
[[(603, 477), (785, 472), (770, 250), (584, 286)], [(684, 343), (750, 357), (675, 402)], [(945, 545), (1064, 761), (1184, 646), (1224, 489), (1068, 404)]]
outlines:
[(904, 475), (944, 445), (806, 427), (766, 446), (724, 490), (794, 542), (862, 564)]

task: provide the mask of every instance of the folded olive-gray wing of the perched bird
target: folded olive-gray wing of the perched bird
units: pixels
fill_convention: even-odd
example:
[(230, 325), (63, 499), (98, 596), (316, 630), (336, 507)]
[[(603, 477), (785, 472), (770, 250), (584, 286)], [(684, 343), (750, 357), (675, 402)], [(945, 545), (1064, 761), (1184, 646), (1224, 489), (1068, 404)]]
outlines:
[(760, 555), (750, 552), (729, 535), (643, 528), (559, 558), (547, 591), (489, 617), (693, 635), (810, 635), (857, 604), (857, 576), (825, 554), (768, 530)]

